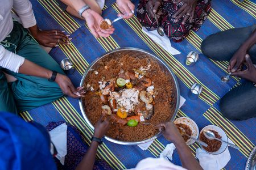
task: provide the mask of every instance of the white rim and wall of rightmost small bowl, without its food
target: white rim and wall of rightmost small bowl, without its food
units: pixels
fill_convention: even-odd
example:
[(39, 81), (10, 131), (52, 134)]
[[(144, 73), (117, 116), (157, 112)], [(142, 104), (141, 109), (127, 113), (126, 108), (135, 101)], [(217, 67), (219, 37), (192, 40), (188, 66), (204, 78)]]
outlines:
[[(214, 131), (217, 131), (217, 133), (221, 136), (221, 140), (228, 142), (228, 136), (226, 135), (225, 131), (222, 130), (220, 127), (215, 126), (215, 125), (205, 126), (200, 131), (200, 134), (203, 133), (204, 130), (214, 130)], [(203, 148), (203, 150), (205, 150), (204, 147), (202, 147), (201, 145), (200, 145), (200, 147)], [(224, 152), (227, 147), (228, 147), (228, 144), (221, 142), (221, 147), (220, 147), (220, 149), (218, 151), (216, 151), (216, 152), (208, 152), (207, 150), (205, 150), (205, 151), (208, 152), (209, 154), (218, 155), (218, 154), (221, 154), (222, 152)]]

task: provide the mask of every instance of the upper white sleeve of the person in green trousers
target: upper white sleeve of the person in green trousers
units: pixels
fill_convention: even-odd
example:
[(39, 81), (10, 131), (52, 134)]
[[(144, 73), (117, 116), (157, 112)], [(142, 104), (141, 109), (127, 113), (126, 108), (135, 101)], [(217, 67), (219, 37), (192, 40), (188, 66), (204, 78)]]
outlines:
[(28, 0), (14, 0), (14, 11), (22, 21), (24, 28), (30, 28), (36, 24), (34, 12), (32, 10), (32, 4)]

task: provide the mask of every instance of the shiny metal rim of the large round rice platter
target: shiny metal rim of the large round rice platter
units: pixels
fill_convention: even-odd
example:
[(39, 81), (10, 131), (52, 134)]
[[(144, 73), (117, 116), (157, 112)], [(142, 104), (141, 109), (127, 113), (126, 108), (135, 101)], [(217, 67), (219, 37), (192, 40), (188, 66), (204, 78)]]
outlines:
[[(170, 67), (168, 67), (166, 65), (166, 63), (164, 63), (162, 61), (162, 59), (142, 50), (142, 49), (138, 49), (138, 48), (119, 48), (119, 49), (115, 49), (111, 52), (108, 52), (104, 55), (102, 55), (101, 57), (97, 58), (95, 61), (92, 62), (92, 64), (90, 64), (89, 68), (85, 71), (84, 73), (84, 76), (82, 76), (82, 80), (81, 80), (81, 83), (80, 83), (80, 86), (83, 86), (84, 85), (84, 81), (85, 81), (85, 78), (86, 78), (86, 75), (89, 74), (89, 72), (91, 70), (93, 70), (94, 67), (97, 66), (97, 63), (104, 57), (109, 57), (109, 56), (118, 56), (118, 55), (121, 55), (121, 54), (131, 54), (131, 55), (141, 55), (141, 56), (147, 56), (147, 57), (152, 57), (155, 59), (155, 61), (157, 61), (159, 63), (159, 65), (161, 67), (163, 67), (164, 70), (167, 70), (168, 73), (170, 73), (170, 75), (172, 76), (172, 79), (174, 81), (174, 84), (175, 84), (175, 92), (174, 92), (174, 97), (176, 99), (175, 101), (175, 111), (173, 113), (173, 116), (171, 118), (170, 121), (174, 121), (175, 117), (176, 117), (176, 114), (177, 114), (177, 111), (179, 109), (179, 104), (180, 104), (180, 90), (179, 90), (179, 84), (177, 83), (177, 79), (176, 79), (176, 76), (175, 74), (171, 71)], [(80, 105), (80, 109), (81, 109), (81, 112), (82, 112), (82, 116), (84, 117), (86, 123), (90, 126), (90, 128), (94, 129), (93, 125), (91, 124), (91, 122), (89, 121), (88, 117), (86, 116), (86, 113), (85, 113), (85, 110), (84, 110), (84, 106), (83, 106), (83, 101), (82, 99), (79, 100), (79, 105)], [(146, 143), (146, 142), (150, 142), (152, 140), (154, 140), (155, 138), (159, 137), (161, 135), (161, 133), (158, 133), (156, 134), (154, 137), (152, 138), (149, 138), (149, 139), (146, 139), (144, 141), (136, 141), (136, 142), (127, 142), (127, 141), (118, 141), (116, 139), (113, 139), (113, 138), (110, 138), (110, 137), (107, 137), (105, 136), (105, 139), (107, 139), (108, 141), (110, 142), (113, 142), (113, 143), (117, 143), (117, 144), (120, 144), (120, 145), (139, 145), (139, 144), (142, 144), (142, 143)]]

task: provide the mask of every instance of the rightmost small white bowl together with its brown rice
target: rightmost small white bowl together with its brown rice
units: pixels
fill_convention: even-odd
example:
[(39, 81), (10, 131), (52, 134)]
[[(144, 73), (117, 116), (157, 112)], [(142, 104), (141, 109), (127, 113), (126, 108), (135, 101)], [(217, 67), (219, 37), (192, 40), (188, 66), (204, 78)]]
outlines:
[[(218, 154), (221, 154), (222, 152), (224, 152), (226, 150), (226, 148), (228, 147), (228, 145), (226, 143), (217, 141), (216, 139), (214, 139), (214, 140), (207, 139), (204, 136), (204, 133), (203, 133), (204, 130), (213, 131), (213, 133), (215, 134), (216, 137), (217, 137), (217, 135), (220, 135), (221, 140), (228, 142), (228, 136), (226, 135), (225, 131), (216, 125), (208, 125), (208, 126), (205, 126), (200, 131), (200, 135), (199, 135), (200, 141), (203, 141), (203, 142), (207, 143), (207, 145), (208, 145), (208, 147), (204, 147), (204, 146), (200, 145), (200, 147), (203, 148), (203, 150), (205, 150), (209, 154), (213, 154), (213, 155), (218, 155)], [(216, 133), (217, 133), (217, 135), (216, 135)]]

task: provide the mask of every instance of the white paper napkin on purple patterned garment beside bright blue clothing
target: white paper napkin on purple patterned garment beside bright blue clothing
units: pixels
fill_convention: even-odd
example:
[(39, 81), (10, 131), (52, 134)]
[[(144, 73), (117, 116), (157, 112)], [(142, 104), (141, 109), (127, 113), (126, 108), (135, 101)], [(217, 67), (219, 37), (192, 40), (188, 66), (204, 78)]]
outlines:
[(67, 155), (67, 124), (61, 124), (49, 131), (51, 141), (56, 147), (56, 158), (64, 165), (65, 156)]

